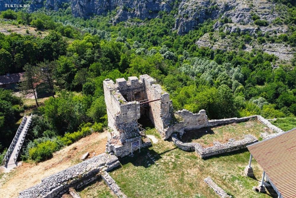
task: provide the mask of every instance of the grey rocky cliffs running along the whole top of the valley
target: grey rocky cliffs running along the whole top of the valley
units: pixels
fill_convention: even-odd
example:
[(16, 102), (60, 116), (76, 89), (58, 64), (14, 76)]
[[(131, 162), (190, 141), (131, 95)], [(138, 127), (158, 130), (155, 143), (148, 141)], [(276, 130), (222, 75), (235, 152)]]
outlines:
[[(0, 10), (7, 9), (5, 0), (0, 0)], [(18, 3), (22, 0), (11, 0)], [(5, 1), (6, 2), (6, 1)], [(160, 11), (170, 12), (173, 0), (32, 0), (30, 11), (41, 7), (57, 10), (65, 6), (71, 6), (75, 17), (88, 18), (92, 15), (107, 14), (116, 10), (113, 22), (120, 22), (129, 18), (155, 18)], [(179, 0), (178, 15), (174, 29), (178, 34), (184, 34), (194, 29), (199, 23), (207, 19), (228, 17), (233, 23), (240, 25), (252, 24), (252, 14), (258, 15), (271, 23), (278, 15), (274, 11), (274, 5), (268, 0)], [(219, 24), (218, 24), (219, 25)], [(215, 27), (219, 28), (219, 26)], [(250, 27), (248, 27), (250, 28)], [(251, 27), (252, 29), (252, 27)], [(250, 30), (253, 31), (253, 30)]]

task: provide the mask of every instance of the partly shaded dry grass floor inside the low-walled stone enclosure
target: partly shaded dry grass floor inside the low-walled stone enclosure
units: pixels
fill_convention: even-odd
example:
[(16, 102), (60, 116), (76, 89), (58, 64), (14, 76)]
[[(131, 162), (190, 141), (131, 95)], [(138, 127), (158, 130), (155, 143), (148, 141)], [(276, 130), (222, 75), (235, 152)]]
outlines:
[(265, 125), (254, 120), (189, 131), (183, 135), (182, 140), (184, 142), (196, 142), (208, 147), (213, 146), (214, 141), (226, 143), (230, 138), (241, 140), (247, 134), (252, 134), (259, 139), (260, 133), (263, 132), (273, 133)]

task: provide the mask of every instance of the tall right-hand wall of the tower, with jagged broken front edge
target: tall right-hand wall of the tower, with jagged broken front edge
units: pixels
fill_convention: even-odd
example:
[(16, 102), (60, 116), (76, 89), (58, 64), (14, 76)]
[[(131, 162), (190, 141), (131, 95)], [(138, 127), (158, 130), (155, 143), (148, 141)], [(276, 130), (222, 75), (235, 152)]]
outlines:
[(172, 119), (172, 101), (167, 92), (163, 91), (160, 85), (155, 84), (156, 81), (149, 75), (141, 75), (140, 80), (144, 83), (147, 99), (149, 101), (161, 99), (149, 103), (149, 119), (155, 128), (162, 132), (169, 126)]

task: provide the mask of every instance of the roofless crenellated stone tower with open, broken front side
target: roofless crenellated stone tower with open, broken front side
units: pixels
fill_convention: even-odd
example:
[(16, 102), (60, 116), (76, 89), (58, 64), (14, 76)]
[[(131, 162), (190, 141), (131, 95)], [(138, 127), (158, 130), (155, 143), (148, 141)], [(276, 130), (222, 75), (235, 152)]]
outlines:
[[(139, 141), (139, 147), (151, 145), (142, 137), (138, 119), (149, 117), (155, 128), (162, 133), (172, 119), (172, 102), (169, 94), (149, 75), (103, 81), (108, 116), (108, 141), (106, 151), (123, 157), (131, 153), (131, 142)], [(137, 148), (133, 148), (136, 150)]]

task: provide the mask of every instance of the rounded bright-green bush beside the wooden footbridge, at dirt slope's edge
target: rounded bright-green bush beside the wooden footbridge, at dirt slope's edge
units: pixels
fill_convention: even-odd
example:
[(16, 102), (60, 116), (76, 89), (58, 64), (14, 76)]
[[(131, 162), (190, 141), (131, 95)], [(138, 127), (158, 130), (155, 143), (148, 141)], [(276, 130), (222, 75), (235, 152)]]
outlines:
[(29, 150), (29, 156), (34, 161), (40, 162), (52, 157), (52, 153), (59, 149), (59, 145), (55, 141), (41, 142), (36, 147)]

